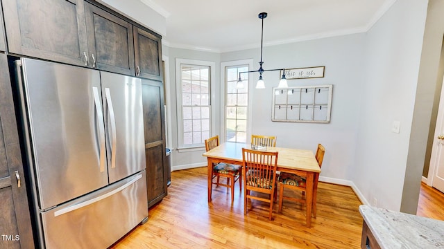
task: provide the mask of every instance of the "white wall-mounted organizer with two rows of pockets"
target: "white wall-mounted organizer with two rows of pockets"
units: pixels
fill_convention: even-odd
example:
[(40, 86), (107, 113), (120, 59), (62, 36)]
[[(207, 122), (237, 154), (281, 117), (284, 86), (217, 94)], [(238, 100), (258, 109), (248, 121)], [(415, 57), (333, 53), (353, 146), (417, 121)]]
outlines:
[(271, 120), (330, 122), (333, 85), (273, 88)]

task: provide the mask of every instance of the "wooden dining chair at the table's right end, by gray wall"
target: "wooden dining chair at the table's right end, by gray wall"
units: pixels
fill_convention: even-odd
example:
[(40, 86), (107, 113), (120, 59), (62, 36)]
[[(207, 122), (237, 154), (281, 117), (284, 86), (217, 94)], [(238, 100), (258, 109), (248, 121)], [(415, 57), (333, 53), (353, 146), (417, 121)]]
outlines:
[[(321, 168), (322, 162), (324, 160), (324, 154), (325, 154), (325, 147), (323, 145), (318, 144), (318, 149), (316, 149), (316, 161), (318, 161), (318, 165)], [(314, 176), (314, 185), (313, 185), (313, 216), (316, 218), (316, 196), (318, 192), (318, 180), (319, 180), (319, 174), (316, 174)], [(281, 172), (279, 176), (279, 212), (282, 211), (282, 202), (284, 199), (288, 199), (291, 201), (297, 201), (303, 204), (306, 204), (305, 201), (305, 191), (306, 191), (306, 184), (305, 184), (306, 178), (302, 176), (298, 176), (296, 174), (291, 174), (287, 172)], [(289, 196), (284, 196), (284, 188), (288, 188), (291, 190), (301, 190), (302, 191), (302, 198), (293, 198)]]

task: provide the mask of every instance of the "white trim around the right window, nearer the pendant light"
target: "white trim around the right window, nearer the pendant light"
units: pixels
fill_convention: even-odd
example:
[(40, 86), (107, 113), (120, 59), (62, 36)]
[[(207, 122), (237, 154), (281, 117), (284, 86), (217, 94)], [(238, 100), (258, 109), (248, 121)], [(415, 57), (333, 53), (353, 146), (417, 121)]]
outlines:
[[(227, 66), (239, 66), (239, 65), (248, 65), (248, 70), (253, 70), (253, 59), (241, 59), (236, 61), (230, 61), (230, 62), (221, 62), (221, 132), (219, 136), (219, 140), (221, 142), (225, 142), (225, 95), (227, 94), (227, 91), (225, 89), (225, 67)], [(251, 136), (251, 120), (253, 119), (253, 111), (251, 108), (253, 107), (253, 96), (251, 93), (253, 93), (253, 84), (252, 79), (253, 77), (250, 77), (248, 75), (248, 108), (247, 108), (247, 142), (248, 138)]]

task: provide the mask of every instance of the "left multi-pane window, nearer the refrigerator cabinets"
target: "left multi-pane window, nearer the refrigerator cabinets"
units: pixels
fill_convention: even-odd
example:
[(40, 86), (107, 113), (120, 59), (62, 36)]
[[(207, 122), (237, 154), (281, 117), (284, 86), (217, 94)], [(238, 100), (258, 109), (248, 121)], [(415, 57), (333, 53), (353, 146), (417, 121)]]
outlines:
[(212, 67), (176, 62), (178, 77), (178, 136), (179, 147), (202, 147), (211, 136), (210, 82)]

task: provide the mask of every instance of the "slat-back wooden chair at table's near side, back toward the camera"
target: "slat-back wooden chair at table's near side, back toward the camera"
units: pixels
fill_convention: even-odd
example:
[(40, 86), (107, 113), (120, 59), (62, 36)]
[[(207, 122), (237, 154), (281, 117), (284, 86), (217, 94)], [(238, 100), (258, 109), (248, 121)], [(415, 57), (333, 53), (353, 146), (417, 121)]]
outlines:
[[(270, 203), (268, 219), (272, 219), (273, 199), (276, 188), (278, 152), (258, 151), (242, 148), (242, 177), (244, 181), (244, 214), (247, 214), (248, 199)], [(269, 199), (253, 196), (251, 191), (269, 194)], [(252, 203), (253, 208), (253, 203)]]

